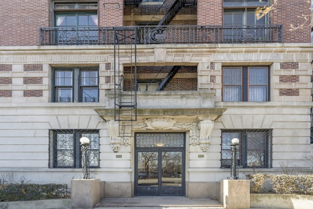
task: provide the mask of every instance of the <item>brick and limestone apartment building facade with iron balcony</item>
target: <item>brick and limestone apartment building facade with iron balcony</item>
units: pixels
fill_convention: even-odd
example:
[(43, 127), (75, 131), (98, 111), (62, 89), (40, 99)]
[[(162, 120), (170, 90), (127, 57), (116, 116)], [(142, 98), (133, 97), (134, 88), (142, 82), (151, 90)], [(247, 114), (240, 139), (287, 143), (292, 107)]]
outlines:
[[(105, 198), (220, 198), (239, 177), (312, 172), (306, 0), (0, 1), (0, 177), (80, 178)], [(171, 10), (173, 8), (173, 10)]]

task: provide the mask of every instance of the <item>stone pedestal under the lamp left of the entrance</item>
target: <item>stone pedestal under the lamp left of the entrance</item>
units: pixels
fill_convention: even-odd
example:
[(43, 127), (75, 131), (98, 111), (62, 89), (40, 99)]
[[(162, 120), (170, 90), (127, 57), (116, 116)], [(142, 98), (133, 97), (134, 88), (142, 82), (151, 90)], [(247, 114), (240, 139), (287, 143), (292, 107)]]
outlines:
[(74, 179), (70, 183), (72, 209), (93, 209), (100, 203), (99, 179)]

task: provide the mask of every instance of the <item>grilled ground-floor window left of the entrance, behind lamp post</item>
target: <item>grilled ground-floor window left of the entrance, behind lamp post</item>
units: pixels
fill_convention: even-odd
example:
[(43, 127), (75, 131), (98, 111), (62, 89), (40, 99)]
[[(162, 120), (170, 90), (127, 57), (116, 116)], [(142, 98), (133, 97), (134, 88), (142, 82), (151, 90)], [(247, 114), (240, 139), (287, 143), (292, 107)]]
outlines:
[(79, 139), (90, 139), (90, 167), (99, 167), (99, 130), (50, 130), (50, 168), (81, 168)]

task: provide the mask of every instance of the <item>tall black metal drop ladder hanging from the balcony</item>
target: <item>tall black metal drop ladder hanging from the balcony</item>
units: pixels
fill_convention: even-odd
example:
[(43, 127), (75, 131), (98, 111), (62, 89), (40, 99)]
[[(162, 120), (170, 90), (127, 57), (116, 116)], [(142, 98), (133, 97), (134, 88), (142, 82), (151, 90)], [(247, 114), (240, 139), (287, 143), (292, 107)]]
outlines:
[[(114, 120), (119, 122), (119, 137), (132, 137), (137, 120), (136, 43), (136, 27), (114, 27)], [(130, 60), (127, 78), (120, 70), (122, 59)]]

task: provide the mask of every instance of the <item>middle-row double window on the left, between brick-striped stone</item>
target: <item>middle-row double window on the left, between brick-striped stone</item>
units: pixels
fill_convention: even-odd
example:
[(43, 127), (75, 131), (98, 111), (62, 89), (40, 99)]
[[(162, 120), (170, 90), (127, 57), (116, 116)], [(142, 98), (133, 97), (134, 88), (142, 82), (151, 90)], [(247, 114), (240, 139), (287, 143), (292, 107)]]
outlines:
[(53, 102), (98, 102), (98, 69), (54, 69)]

